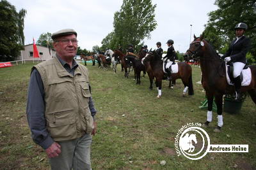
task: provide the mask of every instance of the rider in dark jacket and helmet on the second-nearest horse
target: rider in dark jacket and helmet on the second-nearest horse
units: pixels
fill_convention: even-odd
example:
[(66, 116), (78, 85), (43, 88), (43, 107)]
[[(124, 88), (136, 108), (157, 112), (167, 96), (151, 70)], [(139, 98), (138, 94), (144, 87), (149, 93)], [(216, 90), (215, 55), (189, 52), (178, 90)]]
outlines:
[[(168, 50), (167, 50), (167, 54), (163, 57), (163, 60), (164, 60), (164, 67), (166, 66), (167, 62), (172, 62), (172, 64), (174, 64), (175, 62), (175, 50), (174, 50), (174, 47), (173, 47), (173, 40), (172, 39), (169, 39), (167, 41), (167, 45), (168, 45)], [(172, 77), (171, 77), (171, 73), (172, 73), (172, 67), (170, 66), (168, 69), (167, 69), (167, 74), (168, 74), (168, 80), (171, 80)]]

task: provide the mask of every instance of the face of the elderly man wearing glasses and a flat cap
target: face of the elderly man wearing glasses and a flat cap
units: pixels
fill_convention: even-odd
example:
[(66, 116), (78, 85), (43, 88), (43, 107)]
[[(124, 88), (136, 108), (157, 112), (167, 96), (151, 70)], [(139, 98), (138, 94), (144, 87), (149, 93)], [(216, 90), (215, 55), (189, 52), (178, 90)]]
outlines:
[(60, 36), (54, 40), (54, 49), (62, 59), (73, 59), (77, 52), (75, 34)]

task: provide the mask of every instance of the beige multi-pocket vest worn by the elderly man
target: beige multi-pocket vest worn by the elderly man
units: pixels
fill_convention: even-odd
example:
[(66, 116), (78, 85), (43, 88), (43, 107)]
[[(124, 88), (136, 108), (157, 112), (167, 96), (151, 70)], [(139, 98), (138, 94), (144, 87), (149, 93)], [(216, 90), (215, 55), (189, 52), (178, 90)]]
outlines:
[(91, 133), (93, 118), (88, 106), (88, 70), (79, 64), (74, 76), (54, 57), (35, 66), (44, 83), (45, 119), (54, 141), (76, 139)]

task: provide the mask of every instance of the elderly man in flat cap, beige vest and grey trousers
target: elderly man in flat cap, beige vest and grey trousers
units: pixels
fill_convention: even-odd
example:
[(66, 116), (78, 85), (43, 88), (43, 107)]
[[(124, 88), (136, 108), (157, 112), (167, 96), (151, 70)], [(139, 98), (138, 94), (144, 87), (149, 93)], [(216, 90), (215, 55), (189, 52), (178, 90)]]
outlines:
[(88, 70), (74, 60), (77, 32), (63, 29), (52, 39), (56, 57), (31, 70), (27, 117), (32, 138), (44, 148), (52, 169), (92, 169), (96, 110)]

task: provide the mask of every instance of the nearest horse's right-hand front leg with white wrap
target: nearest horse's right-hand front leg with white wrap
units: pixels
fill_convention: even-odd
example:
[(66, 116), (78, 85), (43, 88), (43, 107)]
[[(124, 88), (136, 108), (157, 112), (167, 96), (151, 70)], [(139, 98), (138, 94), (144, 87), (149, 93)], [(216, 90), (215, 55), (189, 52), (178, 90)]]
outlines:
[(218, 126), (214, 129), (214, 132), (220, 132), (221, 127), (223, 126), (223, 117), (222, 117), (222, 101), (223, 95), (218, 94), (215, 95), (215, 103), (217, 105), (217, 113), (218, 113)]

